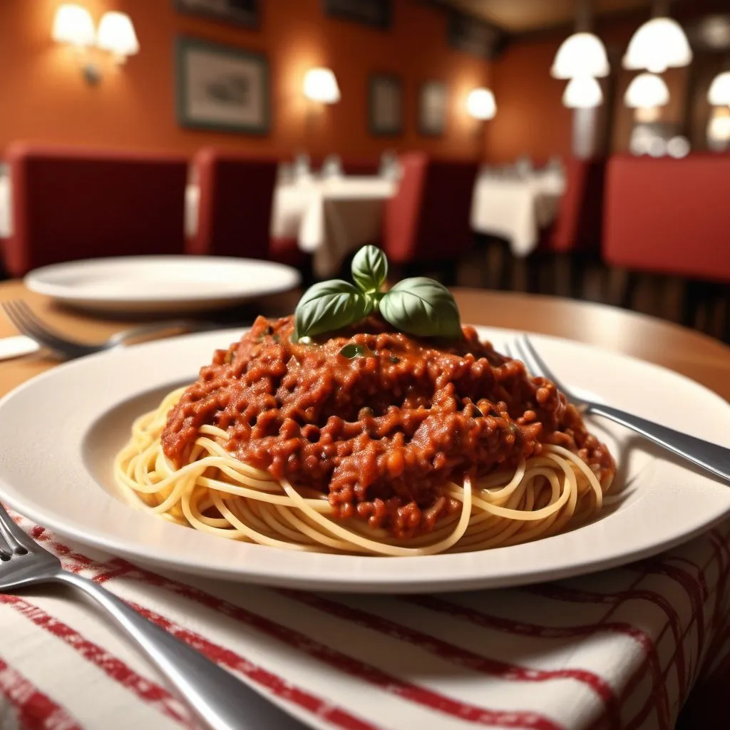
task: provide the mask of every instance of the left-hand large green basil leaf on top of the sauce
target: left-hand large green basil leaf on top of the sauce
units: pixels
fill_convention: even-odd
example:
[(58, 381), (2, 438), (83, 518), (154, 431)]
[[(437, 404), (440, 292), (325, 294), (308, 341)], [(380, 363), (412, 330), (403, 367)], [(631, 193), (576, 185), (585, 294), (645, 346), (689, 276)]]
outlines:
[(363, 319), (374, 301), (356, 286), (333, 279), (310, 286), (294, 312), (295, 338), (331, 332)]

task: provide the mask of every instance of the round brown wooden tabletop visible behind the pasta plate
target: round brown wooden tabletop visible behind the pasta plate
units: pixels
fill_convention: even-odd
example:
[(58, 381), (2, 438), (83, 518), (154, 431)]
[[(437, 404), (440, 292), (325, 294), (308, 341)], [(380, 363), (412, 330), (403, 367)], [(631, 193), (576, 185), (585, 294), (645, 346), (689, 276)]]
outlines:
[[(607, 347), (676, 370), (730, 400), (730, 347), (710, 337), (600, 304), (473, 289), (455, 289), (454, 293), (464, 322), (542, 332)], [(280, 316), (292, 312), (298, 298), (298, 292), (291, 292), (264, 299), (261, 313)], [(62, 332), (89, 342), (135, 324), (57, 307), (45, 296), (27, 291), (18, 281), (0, 283), (0, 301), (7, 299), (25, 299)], [(0, 317), (0, 337), (10, 334), (15, 331)], [(40, 353), (0, 362), (0, 394), (53, 367), (55, 362)]]

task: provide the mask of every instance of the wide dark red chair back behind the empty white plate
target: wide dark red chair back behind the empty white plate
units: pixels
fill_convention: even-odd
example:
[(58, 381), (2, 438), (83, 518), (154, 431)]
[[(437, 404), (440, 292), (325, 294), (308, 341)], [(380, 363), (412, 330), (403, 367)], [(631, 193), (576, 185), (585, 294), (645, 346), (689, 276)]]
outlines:
[(10, 274), (61, 261), (183, 253), (185, 158), (15, 143)]

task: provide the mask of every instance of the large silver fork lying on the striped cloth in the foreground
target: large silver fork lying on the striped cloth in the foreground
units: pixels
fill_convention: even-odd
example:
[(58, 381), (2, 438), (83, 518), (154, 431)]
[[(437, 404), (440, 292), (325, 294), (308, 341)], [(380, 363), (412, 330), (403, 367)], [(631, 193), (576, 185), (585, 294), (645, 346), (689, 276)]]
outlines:
[(214, 730), (303, 730), (304, 726), (234, 675), (150, 623), (101, 585), (68, 572), (13, 522), (0, 504), (0, 592), (66, 583), (88, 593), (137, 642), (180, 699)]

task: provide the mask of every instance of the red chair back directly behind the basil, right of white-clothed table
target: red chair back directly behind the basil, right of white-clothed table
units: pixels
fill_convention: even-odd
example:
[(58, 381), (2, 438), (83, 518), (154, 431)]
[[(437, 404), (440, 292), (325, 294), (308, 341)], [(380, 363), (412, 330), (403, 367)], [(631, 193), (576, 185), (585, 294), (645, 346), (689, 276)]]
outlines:
[(472, 245), (477, 163), (401, 157), (398, 191), (385, 206), (383, 248), (396, 264), (454, 260)]

